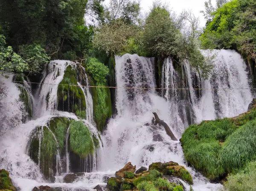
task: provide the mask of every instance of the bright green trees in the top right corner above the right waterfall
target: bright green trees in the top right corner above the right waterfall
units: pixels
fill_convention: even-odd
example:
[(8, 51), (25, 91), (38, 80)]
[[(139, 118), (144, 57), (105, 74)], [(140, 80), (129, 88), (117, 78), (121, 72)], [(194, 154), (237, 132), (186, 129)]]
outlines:
[(212, 20), (201, 35), (204, 49), (237, 49), (256, 60), (256, 2), (231, 0), (212, 12)]

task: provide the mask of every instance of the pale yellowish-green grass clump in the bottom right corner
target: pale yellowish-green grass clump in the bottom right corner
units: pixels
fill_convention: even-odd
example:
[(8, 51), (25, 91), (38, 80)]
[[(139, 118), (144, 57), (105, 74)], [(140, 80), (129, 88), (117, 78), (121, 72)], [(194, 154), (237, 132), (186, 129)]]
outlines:
[(224, 183), (226, 191), (255, 191), (256, 190), (256, 162), (249, 162), (236, 174), (230, 174)]

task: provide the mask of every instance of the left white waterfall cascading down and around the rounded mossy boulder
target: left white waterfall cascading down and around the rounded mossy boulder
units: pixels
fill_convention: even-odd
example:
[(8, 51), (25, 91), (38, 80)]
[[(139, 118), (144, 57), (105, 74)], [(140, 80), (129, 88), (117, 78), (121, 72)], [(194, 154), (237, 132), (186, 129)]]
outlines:
[[(56, 176), (56, 182), (58, 182), (58, 177), (61, 177), (63, 173), (72, 171), (70, 168), (70, 151), (68, 143), (70, 127), (67, 128), (67, 132), (65, 133), (64, 150), (61, 151), (60, 145), (58, 145), (59, 138), (56, 136), (56, 132), (52, 131), (52, 127), (50, 128), (49, 126), (50, 123), (52, 123), (52, 119), (65, 118), (69, 120), (80, 120), (87, 126), (92, 136), (95, 136), (96, 139), (100, 139), (100, 137), (98, 137), (99, 132), (95, 125), (93, 125), (93, 99), (89, 88), (82, 88), (82, 90), (85, 90), (84, 96), (86, 97), (86, 103), (88, 105), (86, 109), (86, 120), (79, 119), (73, 113), (57, 110), (58, 84), (63, 80), (65, 70), (69, 66), (76, 68), (76, 63), (70, 61), (51, 61), (45, 71), (44, 78), (41, 81), (42, 86), (38, 87), (35, 96), (32, 95), (29, 81), (27, 82), (24, 80), (23, 84), (15, 84), (12, 82), (12, 75), (10, 75), (10, 78), (8, 79), (1, 78), (1, 86), (4, 84), (8, 87), (8, 91), (7, 96), (1, 98), (0, 103), (0, 119), (2, 123), (2, 127), (0, 128), (0, 168), (10, 171), (10, 177), (21, 191), (32, 190), (34, 186), (45, 184), (46, 177), (43, 175), (43, 166), (46, 164), (52, 168), (52, 170), (47, 171), (49, 171), (50, 176)], [(87, 76), (86, 83), (89, 85)], [(29, 99), (31, 97), (31, 103), (35, 103), (34, 117), (36, 120), (26, 122), (25, 124), (22, 124), (22, 122), (24, 122), (23, 111), (25, 103), (20, 100), (19, 95), (21, 90), (19, 87), (22, 87), (22, 90), (29, 95)], [(52, 137), (52, 140), (50, 141), (53, 143), (55, 142), (54, 144), (56, 145), (55, 153), (53, 153), (55, 154), (55, 156), (53, 156), (53, 161), (48, 162), (45, 161), (46, 158), (45, 156), (42, 156), (41, 153), (42, 148), (44, 148), (44, 150), (46, 149), (45, 145), (43, 145), (45, 144), (44, 136), (46, 130)], [(92, 136), (91, 139), (93, 140)], [(38, 146), (35, 146), (37, 144)], [(101, 147), (102, 144), (99, 144), (99, 146)], [(31, 149), (35, 150), (35, 147), (38, 151), (32, 153)], [(86, 164), (84, 166), (84, 172), (96, 171), (99, 165), (99, 149), (82, 160)], [(83, 171), (81, 170), (81, 172)], [(96, 175), (94, 174), (92, 176)], [(89, 179), (92, 176), (88, 175), (86, 177)], [(67, 191), (75, 190), (75, 188), (91, 189), (89, 185), (58, 184), (47, 183), (47, 185), (52, 185), (53, 187), (60, 186)]]

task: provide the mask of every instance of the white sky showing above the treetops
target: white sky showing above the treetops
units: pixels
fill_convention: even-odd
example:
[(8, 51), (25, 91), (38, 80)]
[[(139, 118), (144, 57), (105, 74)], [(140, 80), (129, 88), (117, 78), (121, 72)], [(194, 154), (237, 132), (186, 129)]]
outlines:
[[(142, 12), (147, 12), (152, 6), (154, 0), (141, 0)], [(196, 17), (200, 18), (200, 25), (205, 26), (206, 20), (204, 20), (203, 14), (200, 11), (204, 11), (204, 2), (207, 0), (161, 0), (163, 3), (169, 5), (169, 9), (175, 11), (177, 14), (181, 13), (183, 9), (191, 9)], [(212, 1), (214, 4), (214, 0)]]

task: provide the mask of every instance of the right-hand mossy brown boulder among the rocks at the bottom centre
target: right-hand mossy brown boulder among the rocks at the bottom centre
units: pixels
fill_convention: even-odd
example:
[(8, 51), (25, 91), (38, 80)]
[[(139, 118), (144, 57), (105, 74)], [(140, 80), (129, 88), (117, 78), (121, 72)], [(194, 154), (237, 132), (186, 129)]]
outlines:
[(172, 175), (179, 177), (180, 179), (183, 179), (190, 185), (193, 184), (193, 179), (191, 174), (189, 174), (189, 171), (186, 170), (183, 166), (180, 166), (177, 162), (154, 162), (151, 165), (149, 165), (149, 170), (157, 170), (163, 175)]

